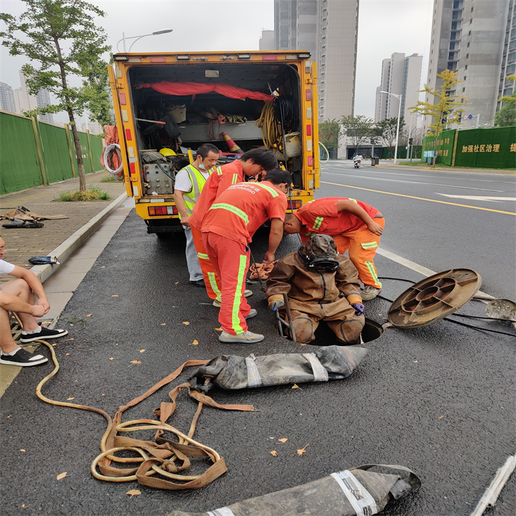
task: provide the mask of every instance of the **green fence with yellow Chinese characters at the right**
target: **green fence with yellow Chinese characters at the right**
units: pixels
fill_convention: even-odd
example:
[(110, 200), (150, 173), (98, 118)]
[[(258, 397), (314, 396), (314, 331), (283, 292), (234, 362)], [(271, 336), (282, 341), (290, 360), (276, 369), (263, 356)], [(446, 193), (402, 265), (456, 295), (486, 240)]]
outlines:
[[(482, 169), (516, 169), (516, 126), (450, 129), (437, 139), (436, 164)], [(423, 140), (424, 151), (434, 150), (433, 136)]]

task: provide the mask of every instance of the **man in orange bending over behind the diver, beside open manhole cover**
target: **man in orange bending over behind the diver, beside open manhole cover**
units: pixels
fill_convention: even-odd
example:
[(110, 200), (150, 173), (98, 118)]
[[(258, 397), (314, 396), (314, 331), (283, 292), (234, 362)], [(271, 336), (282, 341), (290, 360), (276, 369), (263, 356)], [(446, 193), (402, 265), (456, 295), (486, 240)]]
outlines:
[(300, 233), (303, 244), (310, 235), (330, 235), (338, 252), (349, 250), (350, 259), (364, 284), (363, 301), (374, 299), (382, 290), (374, 266), (385, 219), (373, 206), (350, 197), (323, 197), (286, 215), (285, 233)]

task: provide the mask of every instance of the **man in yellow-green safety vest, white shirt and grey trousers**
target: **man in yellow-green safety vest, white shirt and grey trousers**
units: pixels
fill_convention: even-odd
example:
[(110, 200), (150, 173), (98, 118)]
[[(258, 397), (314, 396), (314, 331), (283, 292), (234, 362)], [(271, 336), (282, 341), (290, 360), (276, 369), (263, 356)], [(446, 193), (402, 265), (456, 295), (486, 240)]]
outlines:
[(190, 273), (190, 283), (197, 287), (204, 287), (202, 270), (197, 258), (197, 251), (193, 244), (190, 217), (193, 206), (199, 199), (204, 184), (213, 171), (219, 159), (219, 149), (211, 143), (201, 145), (197, 149), (195, 161), (178, 172), (175, 176), (174, 201), (178, 208), (179, 219), (184, 228), (186, 237), (186, 265)]

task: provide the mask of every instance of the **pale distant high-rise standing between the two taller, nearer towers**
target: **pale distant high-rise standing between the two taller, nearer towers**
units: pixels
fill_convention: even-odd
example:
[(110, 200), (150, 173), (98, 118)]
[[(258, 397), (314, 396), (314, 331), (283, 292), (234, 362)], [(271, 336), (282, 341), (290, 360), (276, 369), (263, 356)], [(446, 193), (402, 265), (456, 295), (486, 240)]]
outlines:
[(400, 52), (382, 61), (380, 86), (376, 88), (375, 122), (398, 118), (400, 100), (394, 95), (401, 96), (401, 116), (405, 123), (409, 125), (411, 118), (416, 120), (415, 115), (411, 117), (409, 108), (418, 103), (422, 62), (423, 57), (418, 54), (405, 57)]

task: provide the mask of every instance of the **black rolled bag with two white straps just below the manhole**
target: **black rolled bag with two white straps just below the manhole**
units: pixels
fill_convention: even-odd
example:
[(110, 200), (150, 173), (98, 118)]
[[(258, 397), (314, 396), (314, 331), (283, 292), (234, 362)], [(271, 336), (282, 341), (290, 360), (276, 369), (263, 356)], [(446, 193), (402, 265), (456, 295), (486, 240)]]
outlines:
[(312, 353), (224, 355), (200, 367), (192, 377), (197, 385), (191, 387), (208, 392), (215, 386), (233, 390), (341, 380), (352, 374), (367, 352), (363, 347), (325, 346)]

